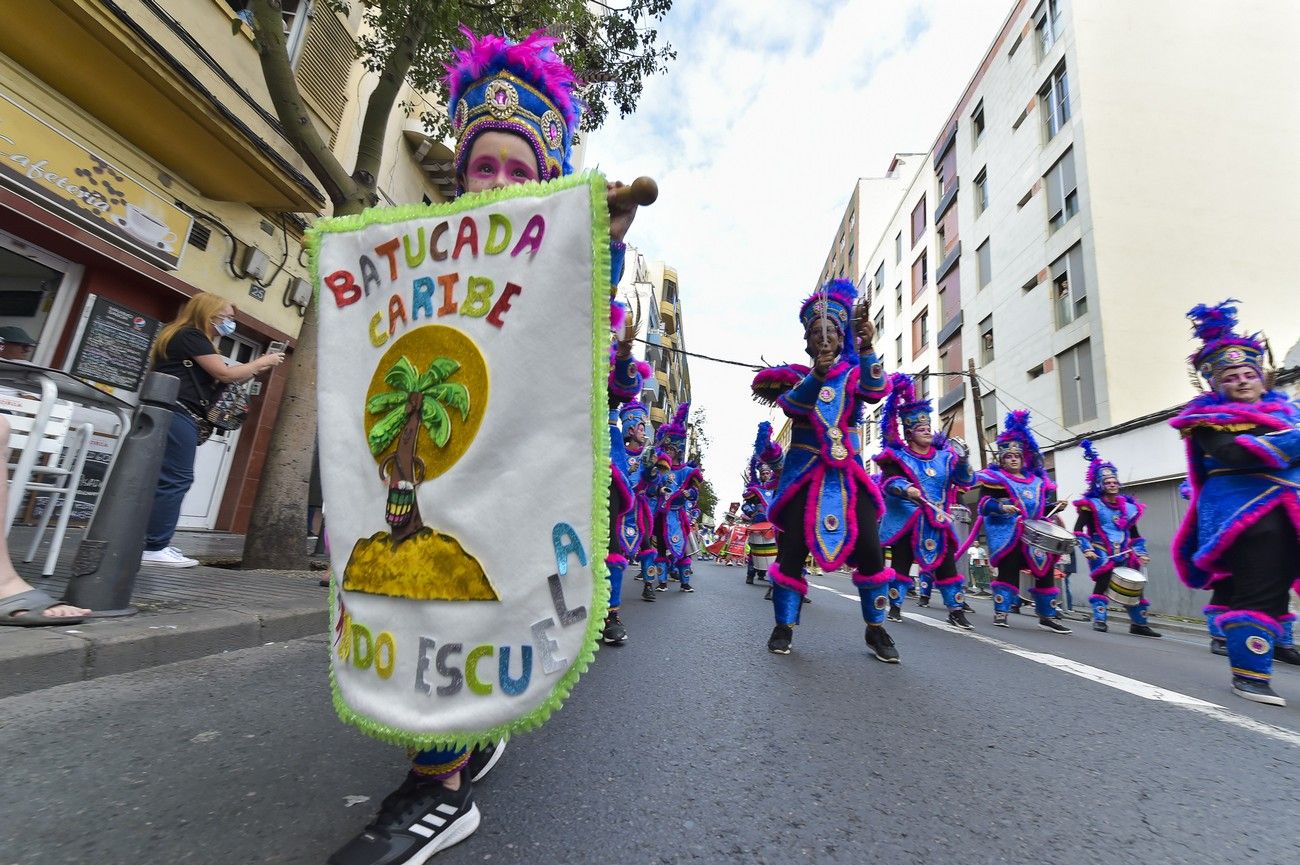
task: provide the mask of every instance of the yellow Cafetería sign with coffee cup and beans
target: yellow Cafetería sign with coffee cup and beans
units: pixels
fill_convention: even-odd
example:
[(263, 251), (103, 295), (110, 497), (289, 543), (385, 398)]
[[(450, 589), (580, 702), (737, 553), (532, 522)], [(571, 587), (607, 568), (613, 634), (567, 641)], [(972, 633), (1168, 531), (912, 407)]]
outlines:
[(176, 269), (190, 216), (0, 92), (0, 182)]

